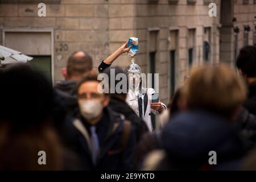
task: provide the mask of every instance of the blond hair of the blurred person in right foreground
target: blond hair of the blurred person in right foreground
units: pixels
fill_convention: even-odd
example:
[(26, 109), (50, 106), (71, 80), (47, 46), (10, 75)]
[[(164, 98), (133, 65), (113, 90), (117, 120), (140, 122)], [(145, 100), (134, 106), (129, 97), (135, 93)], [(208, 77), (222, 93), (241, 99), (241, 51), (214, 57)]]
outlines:
[(224, 117), (232, 116), (247, 92), (242, 79), (225, 65), (192, 69), (185, 88), (189, 109), (204, 109)]

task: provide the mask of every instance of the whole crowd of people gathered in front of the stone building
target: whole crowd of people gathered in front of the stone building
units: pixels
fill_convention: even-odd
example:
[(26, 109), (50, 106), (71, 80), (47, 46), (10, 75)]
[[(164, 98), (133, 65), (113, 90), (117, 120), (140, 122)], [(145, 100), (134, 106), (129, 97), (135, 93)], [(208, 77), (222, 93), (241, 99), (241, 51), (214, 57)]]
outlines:
[[(241, 49), (236, 69), (193, 68), (167, 106), (142, 85), (139, 65), (112, 67), (129, 49), (123, 44), (98, 71), (88, 53), (74, 52), (53, 87), (26, 63), (0, 68), (0, 169), (256, 169), (256, 47)], [(131, 75), (126, 92), (101, 92), (98, 75), (112, 69)]]

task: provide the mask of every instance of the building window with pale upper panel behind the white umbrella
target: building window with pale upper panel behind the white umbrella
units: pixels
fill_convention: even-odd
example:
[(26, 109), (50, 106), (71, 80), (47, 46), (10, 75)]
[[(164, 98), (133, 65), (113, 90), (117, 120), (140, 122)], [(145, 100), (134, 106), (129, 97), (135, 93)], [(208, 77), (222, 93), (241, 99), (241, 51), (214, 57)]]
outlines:
[[(54, 60), (52, 49), (52, 31), (46, 30), (4, 32), (6, 47), (18, 50), (34, 59), (28, 61), (33, 68), (38, 69), (54, 84)], [(26, 45), (26, 46), (24, 46)]]

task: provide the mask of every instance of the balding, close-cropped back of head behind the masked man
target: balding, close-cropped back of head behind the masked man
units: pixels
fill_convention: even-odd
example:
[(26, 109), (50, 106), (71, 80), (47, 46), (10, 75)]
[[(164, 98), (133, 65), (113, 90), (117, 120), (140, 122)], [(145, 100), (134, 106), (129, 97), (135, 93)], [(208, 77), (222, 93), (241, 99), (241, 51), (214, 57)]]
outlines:
[(84, 56), (79, 57), (77, 56), (78, 52), (82, 51), (75, 51), (68, 57), (67, 75), (69, 77), (82, 76), (84, 73), (92, 70), (92, 57), (85, 52), (83, 52)]

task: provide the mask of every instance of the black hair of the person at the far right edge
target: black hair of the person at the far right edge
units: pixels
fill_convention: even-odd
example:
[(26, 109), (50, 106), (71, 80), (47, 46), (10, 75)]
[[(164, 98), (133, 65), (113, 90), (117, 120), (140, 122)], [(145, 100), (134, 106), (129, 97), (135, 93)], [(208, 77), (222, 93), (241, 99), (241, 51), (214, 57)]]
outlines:
[(245, 46), (237, 57), (237, 68), (241, 69), (247, 77), (256, 76), (256, 47)]

